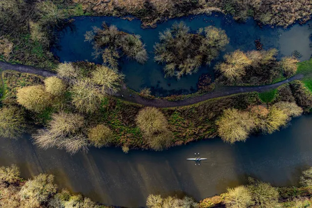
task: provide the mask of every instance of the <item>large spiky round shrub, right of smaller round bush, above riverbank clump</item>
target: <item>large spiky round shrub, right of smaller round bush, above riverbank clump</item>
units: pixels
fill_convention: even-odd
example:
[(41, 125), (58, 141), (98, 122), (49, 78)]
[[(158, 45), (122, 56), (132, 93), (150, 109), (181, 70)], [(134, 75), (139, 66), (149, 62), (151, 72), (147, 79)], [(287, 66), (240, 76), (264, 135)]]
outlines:
[(99, 109), (104, 95), (97, 89), (91, 80), (80, 79), (70, 89), (72, 103), (80, 112), (94, 113)]

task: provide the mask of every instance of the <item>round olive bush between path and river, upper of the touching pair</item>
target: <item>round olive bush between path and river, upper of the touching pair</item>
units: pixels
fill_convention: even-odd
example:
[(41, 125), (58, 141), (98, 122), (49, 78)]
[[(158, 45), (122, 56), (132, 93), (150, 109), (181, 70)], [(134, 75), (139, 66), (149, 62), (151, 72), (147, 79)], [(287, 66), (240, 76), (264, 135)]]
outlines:
[(168, 125), (164, 114), (155, 107), (143, 108), (139, 112), (136, 122), (147, 136), (164, 132)]

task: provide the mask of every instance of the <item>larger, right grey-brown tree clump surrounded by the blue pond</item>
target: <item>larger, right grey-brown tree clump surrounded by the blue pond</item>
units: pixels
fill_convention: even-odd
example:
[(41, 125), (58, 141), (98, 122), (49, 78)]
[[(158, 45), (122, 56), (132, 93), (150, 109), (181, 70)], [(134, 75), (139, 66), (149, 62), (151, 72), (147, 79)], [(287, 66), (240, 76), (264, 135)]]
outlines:
[(160, 33), (159, 39), (154, 45), (155, 61), (165, 64), (165, 77), (177, 79), (196, 73), (203, 63), (209, 64), (217, 58), (229, 43), (224, 30), (208, 26), (192, 34), (184, 22), (174, 23)]

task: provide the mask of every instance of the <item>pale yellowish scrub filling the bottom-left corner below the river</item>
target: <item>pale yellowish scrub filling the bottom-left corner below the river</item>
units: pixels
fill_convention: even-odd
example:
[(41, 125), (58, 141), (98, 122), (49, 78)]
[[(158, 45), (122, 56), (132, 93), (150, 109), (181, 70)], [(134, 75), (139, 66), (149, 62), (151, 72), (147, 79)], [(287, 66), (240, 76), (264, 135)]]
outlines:
[(109, 208), (80, 194), (58, 189), (54, 176), (39, 174), (25, 180), (19, 167), (0, 167), (1, 208)]

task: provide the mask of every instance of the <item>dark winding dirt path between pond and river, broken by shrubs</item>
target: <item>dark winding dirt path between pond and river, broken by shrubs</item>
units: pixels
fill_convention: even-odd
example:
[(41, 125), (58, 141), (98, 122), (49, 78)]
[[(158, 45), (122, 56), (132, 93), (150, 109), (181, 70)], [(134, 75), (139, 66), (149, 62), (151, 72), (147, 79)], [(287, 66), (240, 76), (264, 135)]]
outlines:
[[(32, 66), (20, 65), (20, 64), (10, 64), (6, 62), (0, 62), (0, 68), (2, 68), (2, 70), (15, 70), (15, 71), (23, 72), (23, 73), (37, 74), (43, 77), (56, 76), (56, 74), (53, 72), (40, 69), (40, 68), (36, 68), (36, 67), (32, 67)], [(122, 100), (129, 101), (129, 102), (136, 103), (136, 104), (155, 106), (155, 107), (176, 107), (176, 106), (196, 104), (202, 101), (206, 101), (208, 99), (224, 97), (224, 96), (233, 95), (237, 93), (264, 92), (270, 89), (274, 89), (284, 83), (289, 83), (293, 80), (300, 80), (303, 77), (304, 76), (302, 74), (297, 74), (288, 80), (284, 80), (282, 82), (274, 83), (270, 85), (263, 85), (263, 86), (250, 86), (250, 87), (249, 86), (223, 86), (223, 87), (218, 87), (214, 91), (204, 94), (202, 96), (187, 98), (183, 101), (174, 101), (174, 102), (167, 101), (164, 99), (157, 99), (157, 98), (154, 100), (146, 100), (137, 95), (133, 97), (133, 93), (130, 90), (128, 90), (125, 86), (122, 88), (120, 92), (118, 92), (114, 96), (119, 97)]]

